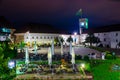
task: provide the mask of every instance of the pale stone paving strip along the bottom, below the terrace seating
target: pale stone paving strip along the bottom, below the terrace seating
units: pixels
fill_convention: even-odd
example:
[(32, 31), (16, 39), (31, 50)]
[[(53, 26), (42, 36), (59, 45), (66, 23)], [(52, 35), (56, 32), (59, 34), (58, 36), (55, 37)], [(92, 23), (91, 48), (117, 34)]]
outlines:
[(39, 75), (39, 74), (24, 74), (24, 75), (18, 75), (14, 80), (93, 80), (93, 76), (87, 75), (83, 76), (82, 74), (74, 74), (74, 75)]

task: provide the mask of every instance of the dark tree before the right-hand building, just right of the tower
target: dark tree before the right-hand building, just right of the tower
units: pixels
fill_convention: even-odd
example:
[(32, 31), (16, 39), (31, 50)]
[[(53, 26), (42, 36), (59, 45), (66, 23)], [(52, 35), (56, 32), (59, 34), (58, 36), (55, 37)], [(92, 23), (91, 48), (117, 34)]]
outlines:
[(90, 46), (92, 46), (92, 44), (100, 43), (100, 39), (98, 37), (95, 37), (94, 34), (88, 34), (88, 37), (86, 37), (84, 43), (90, 43)]

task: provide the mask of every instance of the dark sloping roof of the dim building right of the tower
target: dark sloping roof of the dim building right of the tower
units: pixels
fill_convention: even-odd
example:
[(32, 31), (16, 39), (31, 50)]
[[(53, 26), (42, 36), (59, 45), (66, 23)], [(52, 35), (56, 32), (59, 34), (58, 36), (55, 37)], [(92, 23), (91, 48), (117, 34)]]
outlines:
[(112, 31), (120, 31), (120, 24), (89, 28), (87, 30), (83, 30), (83, 33), (102, 33), (102, 32), (112, 32)]

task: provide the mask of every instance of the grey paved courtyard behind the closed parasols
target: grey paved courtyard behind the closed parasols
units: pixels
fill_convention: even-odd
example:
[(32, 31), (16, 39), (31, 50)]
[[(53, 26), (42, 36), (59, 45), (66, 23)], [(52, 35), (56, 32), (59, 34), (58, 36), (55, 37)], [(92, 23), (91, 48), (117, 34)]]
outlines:
[[(61, 48), (60, 47), (55, 47), (55, 54), (60, 54), (60, 50)], [(64, 47), (63, 48), (63, 52), (64, 53), (68, 53), (70, 50), (69, 47)], [(96, 53), (99, 54), (101, 52), (97, 51), (97, 50), (94, 50), (94, 49), (90, 49), (90, 48), (86, 48), (86, 47), (83, 47), (83, 46), (80, 46), (80, 47), (74, 47), (74, 51), (75, 51), (75, 54), (76, 55), (81, 55), (81, 56), (84, 56), (84, 55), (87, 55), (89, 53)], [(48, 48), (41, 48), (40, 50), (37, 51), (39, 54), (47, 54), (48, 53)], [(33, 49), (29, 50), (29, 53), (34, 53)]]

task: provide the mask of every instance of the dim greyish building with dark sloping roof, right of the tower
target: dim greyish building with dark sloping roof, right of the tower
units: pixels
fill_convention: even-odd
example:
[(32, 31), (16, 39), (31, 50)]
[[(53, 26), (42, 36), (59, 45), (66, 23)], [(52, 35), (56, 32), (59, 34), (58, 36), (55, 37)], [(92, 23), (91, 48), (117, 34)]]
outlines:
[(82, 36), (84, 36), (84, 39), (88, 33), (93, 33), (94, 36), (98, 37), (103, 47), (109, 47), (109, 48), (120, 47), (118, 45), (120, 43), (120, 25), (119, 24), (104, 26), (104, 27), (97, 27), (97, 28), (86, 30), (82, 34)]

